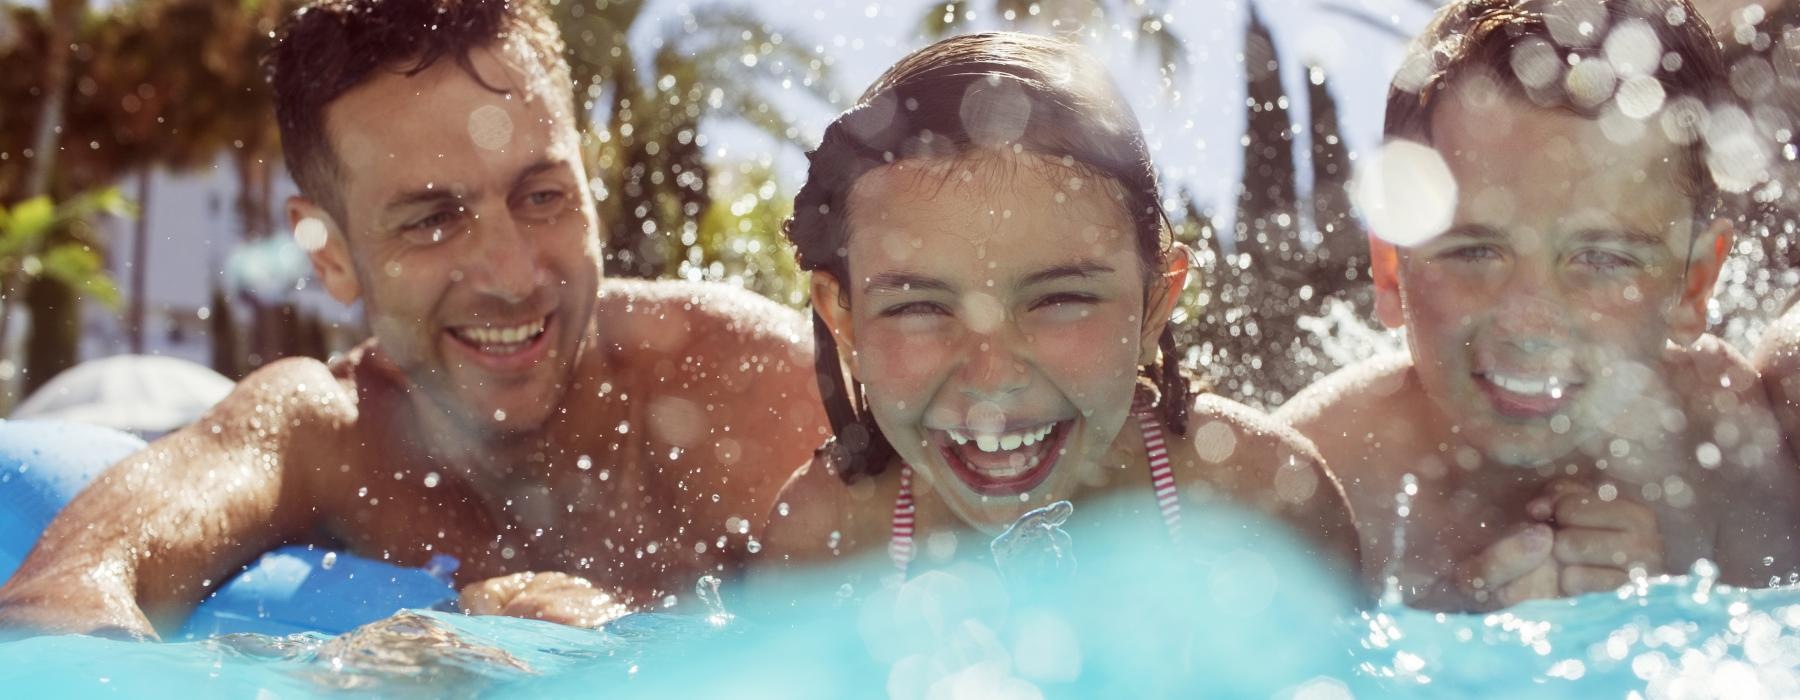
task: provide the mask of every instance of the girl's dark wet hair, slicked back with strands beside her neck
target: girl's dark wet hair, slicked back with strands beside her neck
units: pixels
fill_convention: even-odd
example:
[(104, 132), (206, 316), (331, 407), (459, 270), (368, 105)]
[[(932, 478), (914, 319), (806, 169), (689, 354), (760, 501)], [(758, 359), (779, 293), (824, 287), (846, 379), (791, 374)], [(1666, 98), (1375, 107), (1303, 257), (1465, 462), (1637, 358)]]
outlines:
[[(896, 160), (977, 149), (1030, 151), (1111, 180), (1132, 220), (1145, 268), (1161, 270), (1175, 254), (1138, 117), (1100, 61), (1062, 40), (992, 32), (949, 38), (900, 59), (824, 130), (819, 148), (806, 155), (806, 185), (785, 227), (799, 266), (850, 279), (848, 202), (862, 175)], [(848, 304), (848, 292), (841, 301)], [(846, 378), (817, 310), (812, 328), (837, 473), (846, 482), (880, 473), (893, 446), (869, 416), (862, 385)], [(1161, 360), (1148, 367), (1148, 381), (1157, 389), (1163, 421), (1186, 434), (1190, 387), (1175, 362), (1172, 328), (1163, 329), (1157, 346)]]

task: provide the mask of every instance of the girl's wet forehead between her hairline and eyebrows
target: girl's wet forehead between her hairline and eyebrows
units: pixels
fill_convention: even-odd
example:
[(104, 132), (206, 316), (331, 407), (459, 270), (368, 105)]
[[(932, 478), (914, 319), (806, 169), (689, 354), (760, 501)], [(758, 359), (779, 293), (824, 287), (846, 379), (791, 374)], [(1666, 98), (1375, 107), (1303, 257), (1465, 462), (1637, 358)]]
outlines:
[(877, 266), (1017, 270), (1066, 257), (1136, 256), (1116, 180), (1035, 153), (914, 158), (851, 189), (853, 274)]

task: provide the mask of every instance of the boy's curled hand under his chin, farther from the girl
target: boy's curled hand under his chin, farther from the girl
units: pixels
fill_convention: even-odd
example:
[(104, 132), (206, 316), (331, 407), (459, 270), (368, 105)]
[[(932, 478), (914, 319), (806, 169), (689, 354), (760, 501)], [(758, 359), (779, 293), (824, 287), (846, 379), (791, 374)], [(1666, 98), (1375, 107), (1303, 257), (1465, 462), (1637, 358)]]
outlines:
[(1663, 572), (1663, 538), (1649, 506), (1602, 500), (1593, 486), (1559, 479), (1525, 511), (1555, 525), (1552, 554), (1562, 567), (1564, 596), (1618, 588), (1631, 581), (1631, 569)]

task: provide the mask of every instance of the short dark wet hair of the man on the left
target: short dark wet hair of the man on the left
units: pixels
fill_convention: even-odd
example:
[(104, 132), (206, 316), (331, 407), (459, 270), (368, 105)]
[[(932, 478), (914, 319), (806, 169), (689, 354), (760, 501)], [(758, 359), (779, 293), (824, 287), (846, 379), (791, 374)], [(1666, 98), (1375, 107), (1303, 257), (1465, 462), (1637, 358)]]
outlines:
[(301, 193), (349, 225), (326, 106), (378, 72), (416, 76), (445, 58), (506, 94), (475, 74), (470, 50), (482, 47), (518, 59), (531, 92), (542, 94), (553, 113), (574, 115), (562, 34), (535, 0), (320, 0), (288, 16), (263, 70), (275, 94), (288, 173)]

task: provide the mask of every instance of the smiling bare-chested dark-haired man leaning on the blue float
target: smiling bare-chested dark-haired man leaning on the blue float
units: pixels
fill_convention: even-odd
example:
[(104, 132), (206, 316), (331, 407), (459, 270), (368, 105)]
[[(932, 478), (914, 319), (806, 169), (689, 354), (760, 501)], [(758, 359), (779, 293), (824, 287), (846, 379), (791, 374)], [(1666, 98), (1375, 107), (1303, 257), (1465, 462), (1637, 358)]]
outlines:
[(328, 0), (266, 63), (295, 234), (373, 338), (277, 362), (113, 466), (0, 624), (153, 635), (290, 542), (452, 554), (473, 612), (594, 624), (754, 549), (824, 435), (806, 328), (742, 290), (601, 281), (535, 5)]

